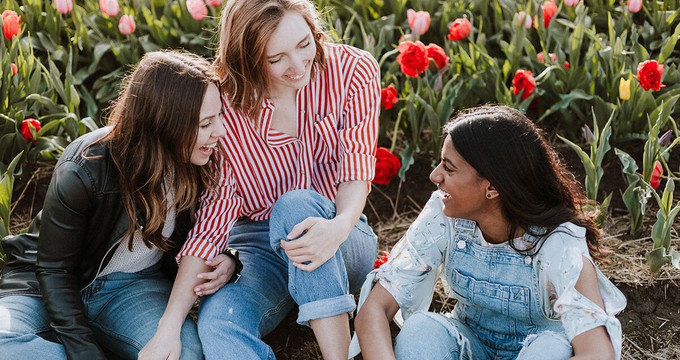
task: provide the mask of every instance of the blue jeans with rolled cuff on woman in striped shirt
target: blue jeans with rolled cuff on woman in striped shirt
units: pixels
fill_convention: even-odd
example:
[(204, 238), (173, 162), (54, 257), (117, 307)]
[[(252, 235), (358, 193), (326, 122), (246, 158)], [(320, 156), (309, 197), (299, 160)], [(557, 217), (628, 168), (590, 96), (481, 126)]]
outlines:
[[(335, 217), (335, 204), (310, 190), (281, 196), (269, 220), (239, 220), (229, 246), (239, 250), (243, 272), (201, 300), (198, 332), (206, 359), (274, 359), (261, 338), (299, 305), (298, 323), (351, 313), (358, 291), (371, 270), (376, 236), (366, 217), (355, 225), (334, 257), (312, 272), (292, 265), (280, 240), (308, 217)], [(294, 241), (294, 240), (291, 240)]]

